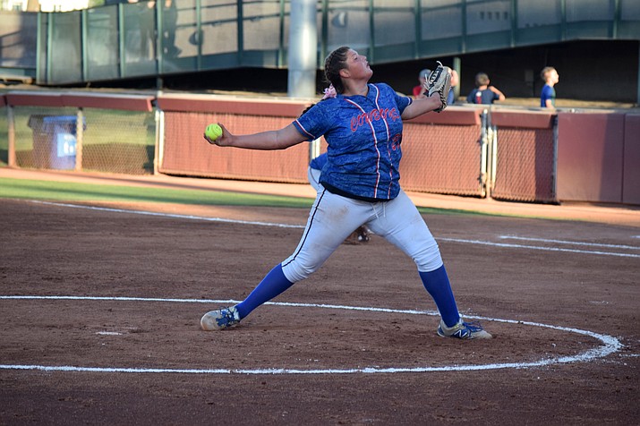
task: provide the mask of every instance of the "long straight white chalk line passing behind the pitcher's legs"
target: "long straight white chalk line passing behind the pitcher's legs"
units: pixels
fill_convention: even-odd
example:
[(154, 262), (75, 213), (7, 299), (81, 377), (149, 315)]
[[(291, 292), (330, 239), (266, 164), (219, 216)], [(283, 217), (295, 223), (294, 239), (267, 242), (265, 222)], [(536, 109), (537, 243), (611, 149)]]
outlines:
[[(133, 215), (145, 215), (145, 216), (155, 216), (155, 217), (172, 217), (178, 219), (188, 219), (188, 220), (203, 220), (208, 222), (222, 222), (228, 224), (239, 224), (239, 225), (255, 225), (255, 226), (277, 226), (282, 228), (297, 228), (303, 229), (305, 226), (303, 225), (286, 225), (286, 224), (277, 224), (272, 222), (258, 222), (258, 221), (247, 221), (247, 220), (235, 220), (235, 219), (226, 219), (221, 217), (202, 217), (202, 216), (192, 216), (192, 215), (178, 215), (174, 213), (158, 213), (152, 211), (144, 211), (144, 210), (126, 210), (126, 209), (112, 209), (107, 207), (95, 207), (95, 206), (82, 206), (77, 204), (67, 204), (60, 202), (52, 202), (52, 201), (41, 201), (41, 200), (29, 200), (33, 203), (38, 204), (46, 204), (49, 206), (57, 206), (57, 207), (68, 207), (72, 209), (90, 209), (90, 210), (98, 210), (98, 211), (109, 211), (113, 213), (130, 213)], [(502, 236), (500, 236), (502, 238)], [(527, 250), (540, 250), (540, 251), (567, 251), (572, 253), (584, 253), (584, 254), (597, 254), (601, 256), (619, 256), (626, 258), (640, 258), (640, 254), (627, 254), (627, 253), (617, 253), (610, 251), (588, 251), (588, 250), (574, 250), (574, 249), (562, 249), (558, 247), (540, 247), (534, 245), (521, 245), (521, 244), (508, 244), (508, 243), (491, 243), (489, 241), (480, 241), (480, 240), (465, 240), (461, 238), (445, 238), (439, 237), (437, 238), (439, 241), (446, 241), (449, 243), (465, 243), (465, 244), (482, 244), (482, 245), (491, 245), (494, 247), (503, 247), (503, 248), (511, 248), (511, 249), (527, 249)]]

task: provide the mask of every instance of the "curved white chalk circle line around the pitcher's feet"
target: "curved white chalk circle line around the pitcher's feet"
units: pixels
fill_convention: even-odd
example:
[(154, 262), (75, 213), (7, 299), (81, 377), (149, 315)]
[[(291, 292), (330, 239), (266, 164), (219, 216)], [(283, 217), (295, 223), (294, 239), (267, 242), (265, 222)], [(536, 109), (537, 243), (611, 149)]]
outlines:
[[(234, 300), (205, 300), (205, 299), (161, 299), (146, 297), (101, 297), (101, 296), (34, 296), (34, 295), (0, 295), (0, 300), (75, 300), (75, 301), (117, 301), (117, 302), (183, 302), (183, 303), (235, 303)], [(323, 309), (341, 309), (350, 311), (375, 311), (375, 312), (394, 312), (410, 315), (431, 315), (436, 316), (435, 311), (416, 311), (416, 310), (397, 310), (388, 308), (374, 308), (363, 306), (347, 306), (321, 303), (296, 303), (296, 302), (267, 302), (265, 304), (287, 307), (304, 307), (304, 308), (323, 308)], [(503, 322), (508, 324), (519, 324), (530, 327), (550, 328), (569, 333), (593, 337), (600, 340), (602, 345), (589, 349), (581, 354), (561, 356), (558, 358), (547, 358), (534, 362), (500, 362), (484, 365), (448, 365), (443, 367), (364, 367), (364, 368), (345, 368), (345, 369), (163, 369), (163, 368), (128, 368), (128, 367), (87, 367), (73, 365), (20, 365), (20, 364), (0, 364), (0, 370), (37, 370), (37, 371), (81, 371), (81, 372), (105, 372), (105, 373), (180, 373), (180, 374), (377, 374), (377, 373), (400, 373), (400, 372), (437, 372), (437, 371), (482, 371), (482, 370), (501, 370), (501, 369), (526, 369), (533, 367), (544, 367), (552, 364), (569, 363), (569, 362), (591, 362), (593, 360), (606, 357), (610, 354), (619, 352), (623, 345), (616, 337), (594, 333), (593, 331), (582, 330), (578, 328), (568, 328), (542, 324), (531, 321), (521, 320), (501, 320), (496, 318), (488, 318), (474, 315), (465, 315), (467, 320), (488, 320), (493, 322)], [(461, 342), (464, 345), (464, 342)]]

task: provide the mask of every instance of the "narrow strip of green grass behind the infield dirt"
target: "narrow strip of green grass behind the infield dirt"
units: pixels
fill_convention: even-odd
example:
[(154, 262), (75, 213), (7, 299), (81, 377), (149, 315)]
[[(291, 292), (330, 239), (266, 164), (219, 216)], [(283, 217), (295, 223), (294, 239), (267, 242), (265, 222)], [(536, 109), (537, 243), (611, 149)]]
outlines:
[[(0, 199), (64, 202), (158, 202), (201, 206), (261, 206), (294, 209), (310, 209), (313, 203), (311, 198), (243, 192), (149, 188), (11, 178), (0, 178)], [(431, 214), (482, 214), (449, 209), (419, 208), (419, 210), (422, 213)]]

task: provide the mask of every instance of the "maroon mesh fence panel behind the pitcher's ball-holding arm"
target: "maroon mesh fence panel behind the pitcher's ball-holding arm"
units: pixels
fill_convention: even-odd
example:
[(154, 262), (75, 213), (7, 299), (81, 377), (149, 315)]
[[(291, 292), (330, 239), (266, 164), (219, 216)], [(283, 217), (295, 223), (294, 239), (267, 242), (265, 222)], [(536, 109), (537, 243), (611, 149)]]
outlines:
[(277, 130), (290, 124), (308, 104), (264, 99), (226, 99), (192, 95), (160, 96), (164, 149), (159, 171), (281, 183), (306, 183), (309, 144), (284, 151), (229, 149), (203, 138), (207, 124), (221, 123), (235, 134)]

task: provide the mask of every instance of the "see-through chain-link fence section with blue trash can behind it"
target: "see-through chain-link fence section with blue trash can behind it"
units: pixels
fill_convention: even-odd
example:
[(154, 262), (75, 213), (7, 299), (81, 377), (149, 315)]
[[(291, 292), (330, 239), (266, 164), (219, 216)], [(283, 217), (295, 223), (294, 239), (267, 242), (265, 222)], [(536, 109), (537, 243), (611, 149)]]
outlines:
[(126, 175), (153, 173), (154, 113), (14, 106), (13, 118), (16, 166)]

